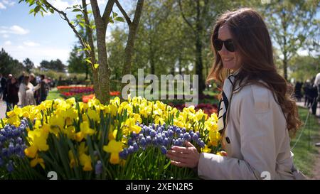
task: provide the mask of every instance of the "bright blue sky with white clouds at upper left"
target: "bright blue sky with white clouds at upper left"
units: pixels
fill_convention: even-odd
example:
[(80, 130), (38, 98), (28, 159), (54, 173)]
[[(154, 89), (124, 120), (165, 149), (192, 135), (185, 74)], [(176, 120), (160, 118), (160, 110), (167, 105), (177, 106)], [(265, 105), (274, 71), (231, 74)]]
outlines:
[[(65, 11), (66, 7), (81, 1), (49, 0), (49, 2)], [(106, 2), (98, 0), (100, 10), (105, 9)], [(126, 5), (122, 6), (128, 11)], [(40, 14), (29, 15), (30, 9), (26, 3), (18, 4), (18, 0), (0, 0), (0, 49), (4, 48), (9, 55), (21, 62), (30, 58), (35, 65), (38, 65), (41, 60), (59, 58), (67, 64), (69, 53), (78, 41), (68, 23), (58, 14), (46, 14), (43, 17)], [(117, 11), (116, 6), (114, 11)], [(72, 12), (67, 13), (70, 18), (74, 18)], [(120, 15), (119, 11), (117, 13)], [(119, 26), (124, 27), (125, 24), (119, 23)], [(110, 36), (112, 28), (114, 26), (108, 26), (107, 36)]]

